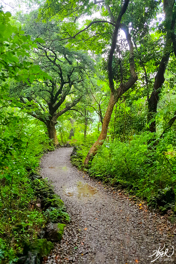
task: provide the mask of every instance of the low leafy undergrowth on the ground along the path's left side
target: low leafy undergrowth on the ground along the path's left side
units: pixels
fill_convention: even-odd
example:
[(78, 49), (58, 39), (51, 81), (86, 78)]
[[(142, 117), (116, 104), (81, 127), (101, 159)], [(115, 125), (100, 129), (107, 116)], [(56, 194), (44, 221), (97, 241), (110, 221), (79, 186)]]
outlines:
[[(33, 180), (31, 175), (38, 173), (43, 153), (54, 150), (54, 147), (43, 124), (28, 116), (18, 118), (18, 121), (9, 123), (4, 131), (1, 130), (1, 264), (16, 263), (23, 252), (24, 243), (35, 240), (49, 219), (38, 205), (39, 192), (42, 188), (48, 188), (48, 183), (42, 179)], [(68, 220), (69, 216), (61, 209), (55, 211), (61, 222)], [(50, 218), (55, 211), (50, 211)]]

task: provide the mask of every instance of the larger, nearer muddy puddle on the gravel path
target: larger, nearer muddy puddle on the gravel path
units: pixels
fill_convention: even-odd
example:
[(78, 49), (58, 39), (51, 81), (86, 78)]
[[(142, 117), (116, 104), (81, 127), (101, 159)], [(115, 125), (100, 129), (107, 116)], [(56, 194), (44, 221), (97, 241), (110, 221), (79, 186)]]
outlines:
[(91, 197), (98, 192), (96, 188), (93, 188), (92, 186), (88, 185), (87, 183), (84, 184), (81, 181), (77, 182), (77, 187), (65, 188), (63, 190), (65, 192), (65, 195), (73, 196), (73, 197), (82, 197), (82, 196)]

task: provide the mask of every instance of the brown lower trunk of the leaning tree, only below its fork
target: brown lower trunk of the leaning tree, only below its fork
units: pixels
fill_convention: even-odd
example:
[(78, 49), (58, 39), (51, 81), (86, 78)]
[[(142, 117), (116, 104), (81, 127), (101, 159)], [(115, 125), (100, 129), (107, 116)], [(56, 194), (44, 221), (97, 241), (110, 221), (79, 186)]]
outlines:
[(84, 165), (88, 165), (89, 161), (91, 161), (94, 158), (94, 156), (96, 155), (98, 148), (101, 145), (103, 145), (104, 140), (106, 139), (106, 136), (107, 136), (108, 126), (109, 126), (109, 122), (111, 120), (111, 114), (112, 114), (115, 103), (116, 103), (116, 100), (114, 99), (114, 94), (111, 93), (108, 108), (106, 110), (106, 113), (105, 113), (105, 116), (103, 119), (101, 133), (100, 133), (97, 141), (90, 148), (90, 150), (89, 150), (89, 152), (88, 152), (88, 154), (84, 160)]

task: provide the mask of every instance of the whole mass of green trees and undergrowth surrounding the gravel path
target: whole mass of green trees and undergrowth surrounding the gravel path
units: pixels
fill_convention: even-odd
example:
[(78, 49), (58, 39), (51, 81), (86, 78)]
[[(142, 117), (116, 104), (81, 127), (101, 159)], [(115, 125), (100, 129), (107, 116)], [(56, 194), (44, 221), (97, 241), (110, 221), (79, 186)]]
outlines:
[(76, 145), (79, 169), (163, 211), (158, 191), (176, 192), (175, 0), (26, 5), (0, 8), (0, 258), (10, 263), (24, 219), (42, 224), (27, 204), (43, 151)]

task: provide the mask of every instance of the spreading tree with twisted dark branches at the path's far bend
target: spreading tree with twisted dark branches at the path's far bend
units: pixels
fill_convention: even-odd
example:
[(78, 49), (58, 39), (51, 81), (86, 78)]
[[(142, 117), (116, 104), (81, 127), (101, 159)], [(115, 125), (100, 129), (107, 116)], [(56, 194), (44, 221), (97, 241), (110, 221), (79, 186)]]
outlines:
[(38, 47), (31, 52), (31, 59), (52, 79), (38, 81), (31, 86), (20, 83), (11, 88), (11, 93), (26, 105), (28, 114), (45, 123), (49, 138), (57, 145), (57, 119), (89, 92), (88, 76), (89, 72), (94, 72), (94, 62), (85, 50), (78, 51), (53, 41), (55, 33), (50, 34), (50, 38), (46, 37), (48, 29), (38, 31), (43, 26), (42, 22), (39, 27), (36, 21), (32, 24), (36, 26), (30, 29), (33, 36), (45, 38), (46, 42), (38, 43)]

